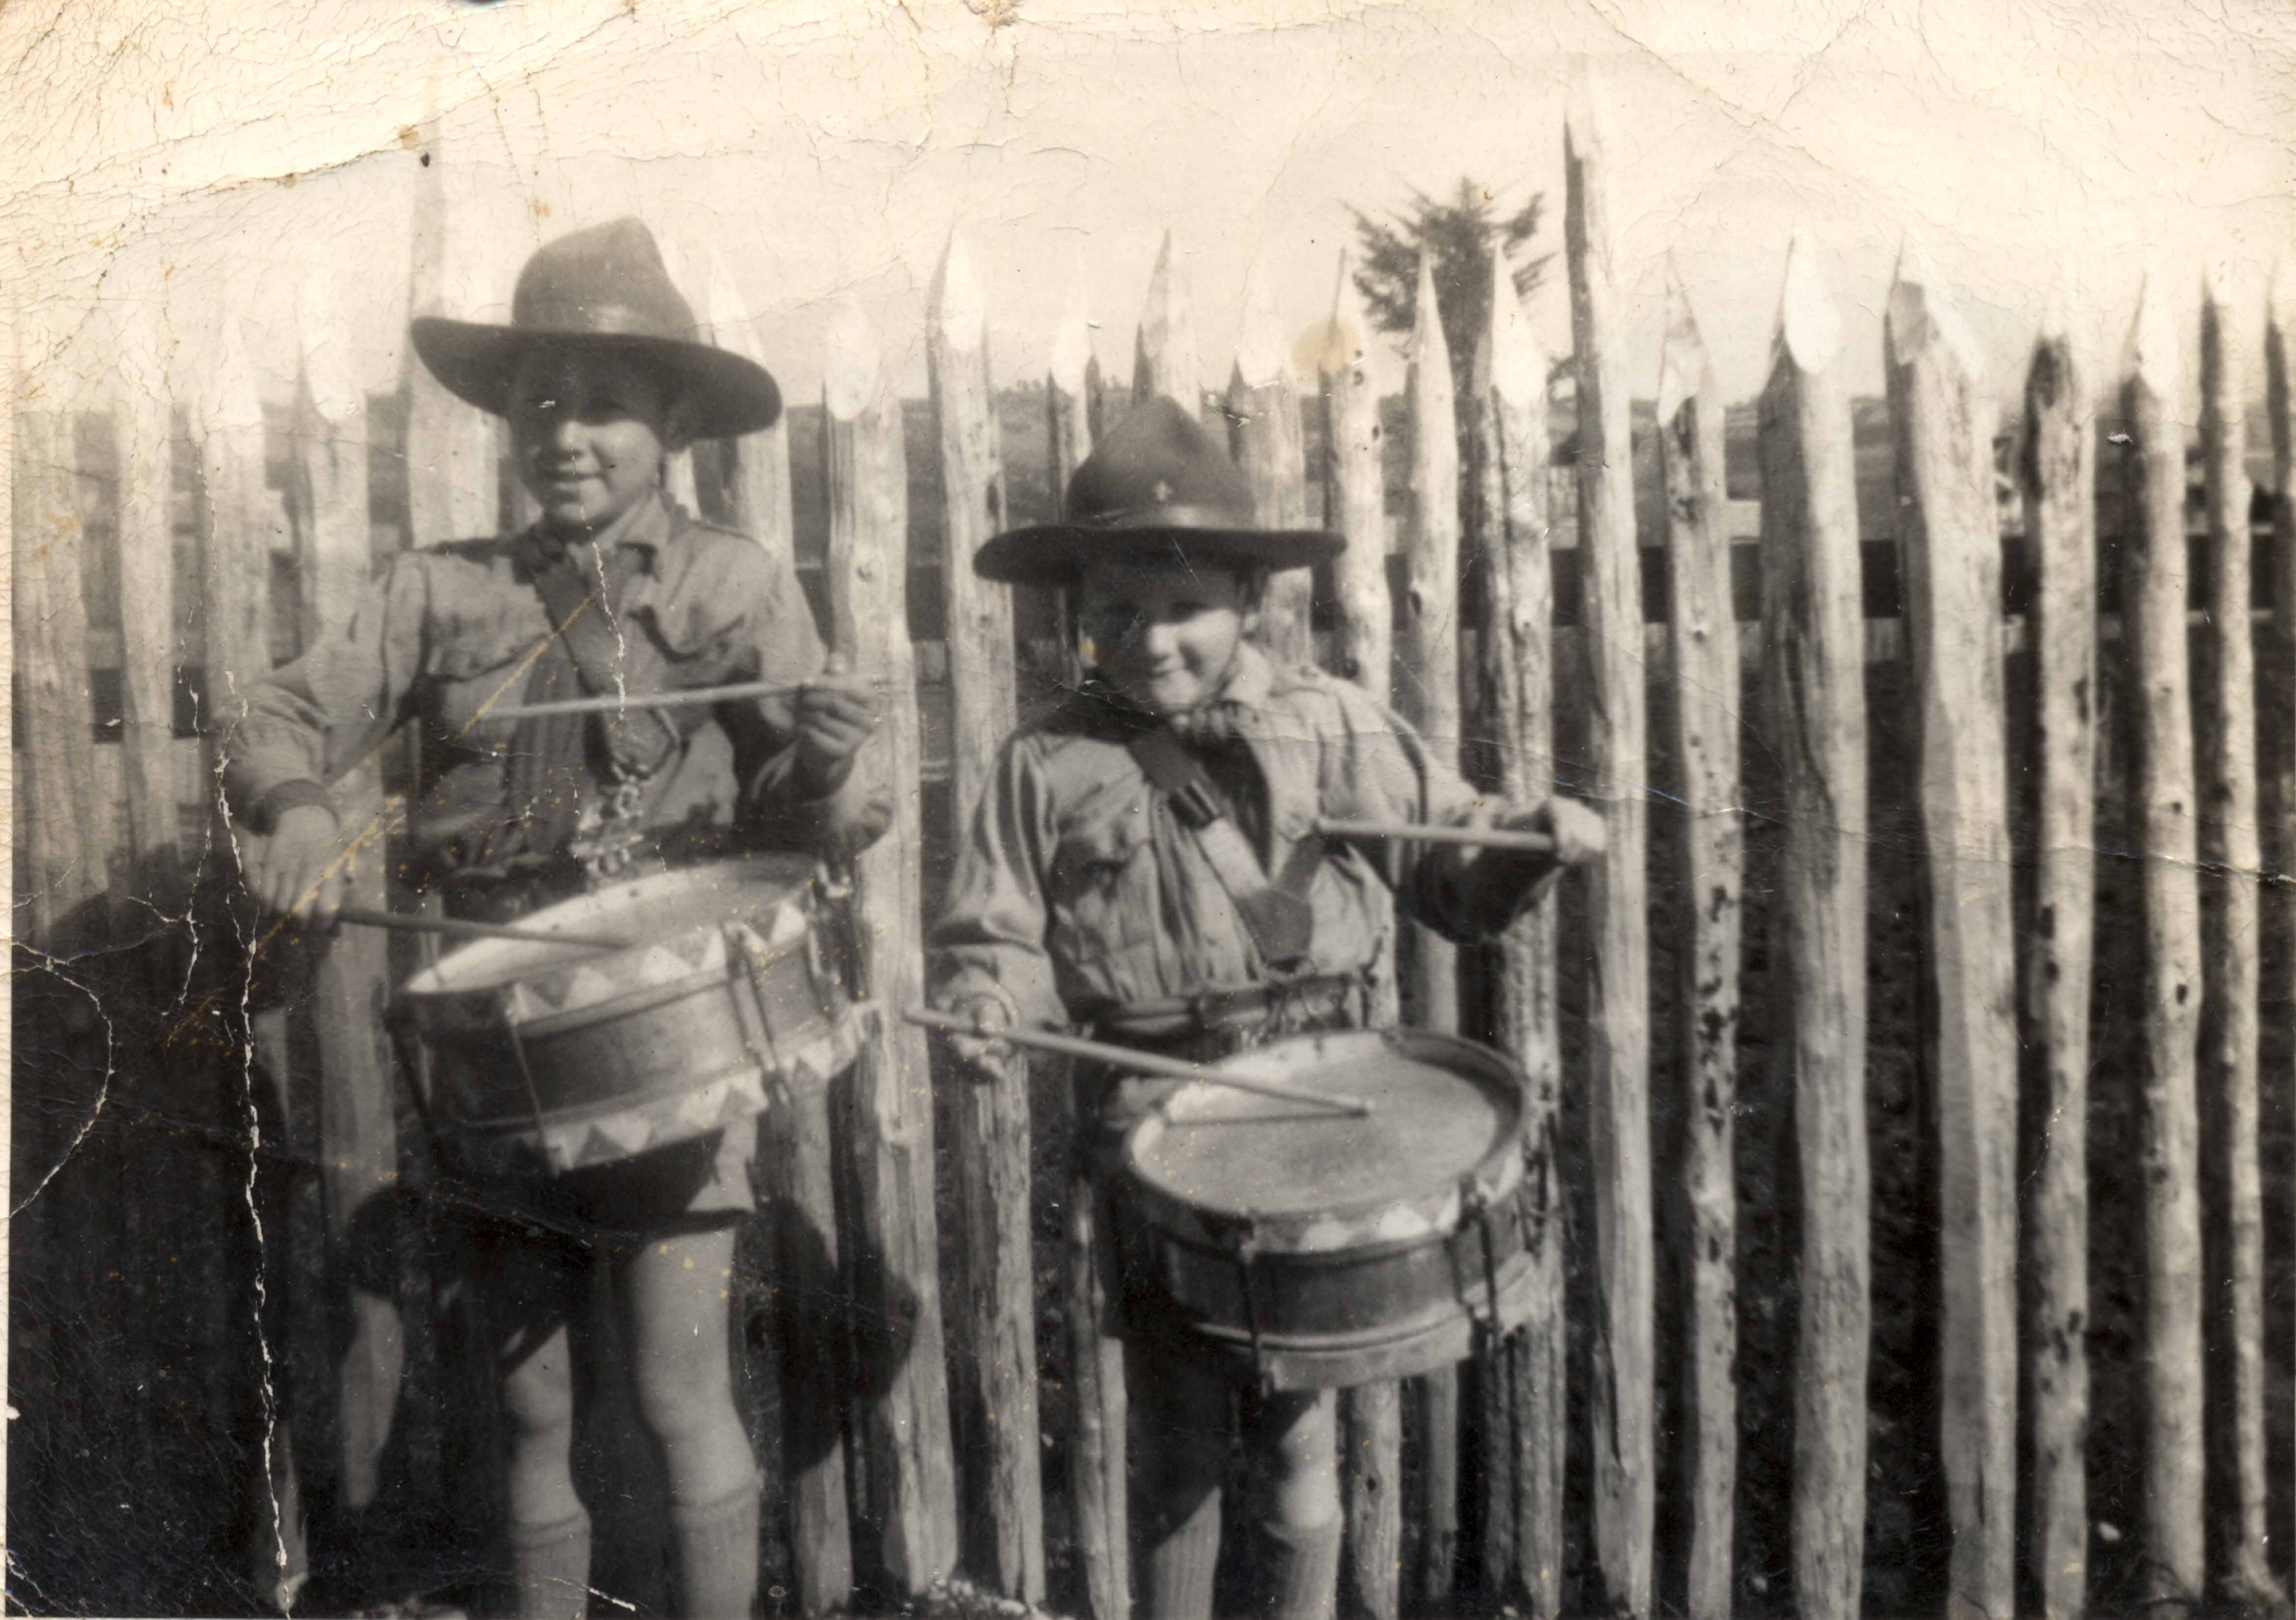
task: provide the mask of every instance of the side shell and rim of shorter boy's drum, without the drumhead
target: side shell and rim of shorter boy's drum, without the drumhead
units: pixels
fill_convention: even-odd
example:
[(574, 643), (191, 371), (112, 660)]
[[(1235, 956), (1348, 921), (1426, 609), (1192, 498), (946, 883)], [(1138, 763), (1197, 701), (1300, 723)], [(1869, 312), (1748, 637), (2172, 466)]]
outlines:
[[(1531, 1306), (1529, 1232), (1545, 1214), (1541, 1186), (1522, 1173), (1520, 1069), (1453, 1037), (1348, 1039), (1435, 1053), (1486, 1088), (1508, 1088), (1513, 1129), (1467, 1175), (1382, 1207), (1238, 1218), (1143, 1186), (1139, 1175), (1125, 1177), (1118, 1198), (1134, 1276), (1150, 1285), (1137, 1301), (1143, 1326), (1178, 1329), (1277, 1391), (1430, 1372), (1467, 1358), (1479, 1333), (1520, 1326)], [(1148, 1129), (1134, 1127), (1134, 1154)]]

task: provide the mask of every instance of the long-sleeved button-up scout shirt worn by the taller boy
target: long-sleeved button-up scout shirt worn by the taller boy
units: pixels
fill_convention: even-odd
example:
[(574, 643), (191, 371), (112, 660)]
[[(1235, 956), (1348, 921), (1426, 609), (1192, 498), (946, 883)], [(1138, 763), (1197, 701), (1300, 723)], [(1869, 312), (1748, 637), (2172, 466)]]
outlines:
[[(232, 803), (269, 831), (292, 805), (328, 803), (321, 782), (413, 723), (422, 780), (409, 847), (420, 881), (563, 867), (569, 838), (595, 824), (615, 785), (622, 817), (670, 863), (760, 844), (838, 856), (884, 831), (891, 799), (877, 746), (863, 748), (838, 792), (806, 796), (792, 693), (487, 718), (491, 707), (583, 695), (535, 590), (551, 567), (576, 564), (535, 530), (393, 558), (340, 633), (255, 684), (227, 750)], [(597, 599), (585, 610), (611, 626), (615, 675), (631, 693), (797, 684), (822, 668), (788, 560), (659, 491), (597, 537), (590, 569)]]

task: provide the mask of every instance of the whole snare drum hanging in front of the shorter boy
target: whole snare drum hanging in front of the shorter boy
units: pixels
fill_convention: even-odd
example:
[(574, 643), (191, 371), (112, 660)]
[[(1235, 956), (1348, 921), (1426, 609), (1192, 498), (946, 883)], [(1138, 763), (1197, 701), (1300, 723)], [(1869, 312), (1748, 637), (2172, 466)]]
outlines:
[(1219, 1069), (1371, 1115), (1180, 1085), (1125, 1138), (1125, 1200), (1162, 1306), (1265, 1388), (1348, 1388), (1465, 1361), (1531, 1306), (1525, 1078), (1426, 1030), (1302, 1035)]

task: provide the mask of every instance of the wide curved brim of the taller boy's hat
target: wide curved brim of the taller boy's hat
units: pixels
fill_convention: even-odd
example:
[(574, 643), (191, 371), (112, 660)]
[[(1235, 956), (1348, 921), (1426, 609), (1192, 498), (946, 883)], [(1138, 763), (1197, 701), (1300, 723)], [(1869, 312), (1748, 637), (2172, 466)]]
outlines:
[(432, 376), (491, 415), (510, 415), (510, 385), (530, 349), (629, 351), (666, 367), (696, 438), (737, 438), (781, 420), (781, 385), (755, 360), (712, 344), (636, 333), (569, 333), (535, 326), (484, 326), (425, 314), (413, 321), (416, 353)]

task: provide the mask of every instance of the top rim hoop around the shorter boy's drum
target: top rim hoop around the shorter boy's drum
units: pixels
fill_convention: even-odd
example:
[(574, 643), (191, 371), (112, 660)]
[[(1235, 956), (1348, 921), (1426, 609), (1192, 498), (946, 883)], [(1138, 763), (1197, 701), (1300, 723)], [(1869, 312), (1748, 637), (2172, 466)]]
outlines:
[[(1451, 1200), (1460, 1200), (1465, 1205), (1463, 1200), (1465, 1189), (1474, 1189), (1474, 1193), (1483, 1202), (1499, 1202), (1508, 1198), (1515, 1191), (1515, 1186), (1522, 1184), (1525, 1145), (1531, 1122), (1531, 1106), (1529, 1106), (1531, 1083), (1522, 1065), (1508, 1058), (1497, 1046), (1486, 1046), (1481, 1042), (1472, 1042), (1463, 1035), (1449, 1035), (1444, 1030), (1318, 1030), (1318, 1033), (1290, 1035), (1286, 1039), (1270, 1042), (1265, 1046), (1254, 1046), (1247, 1053), (1235, 1053), (1235, 1058), (1224, 1058), (1221, 1062), (1215, 1062), (1210, 1067), (1217, 1069), (1226, 1062), (1265, 1058), (1270, 1051), (1281, 1051), (1283, 1046), (1309, 1044), (1309, 1042), (1318, 1042), (1325, 1046), (1334, 1042), (1345, 1042), (1345, 1044), (1375, 1042), (1380, 1046), (1387, 1046), (1389, 1051), (1403, 1051), (1410, 1056), (1426, 1056), (1430, 1049), (1465, 1053), (1476, 1062), (1458, 1069), (1460, 1074), (1467, 1076), (1481, 1074), (1483, 1078), (1508, 1081), (1513, 1085), (1513, 1106), (1515, 1106), (1513, 1129), (1502, 1129), (1497, 1138), (1490, 1143), (1490, 1147), (1474, 1161), (1474, 1166), (1440, 1184), (1428, 1184), (1417, 1193), (1405, 1193), (1401, 1198), (1359, 1198), (1343, 1205), (1325, 1205), (1302, 1214), (1267, 1214), (1267, 1212), (1231, 1214), (1224, 1209), (1210, 1209), (1205, 1205), (1189, 1202), (1180, 1193), (1157, 1186), (1155, 1182), (1148, 1182), (1139, 1173), (1143, 1138), (1150, 1131), (1159, 1134), (1171, 1127), (1171, 1120), (1166, 1120), (1162, 1111), (1155, 1111), (1148, 1113), (1143, 1120), (1137, 1120), (1125, 1131), (1125, 1143), (1123, 1143), (1125, 1186), (1134, 1198), (1134, 1202), (1139, 1205), (1141, 1216), (1148, 1221), (1153, 1230), (1169, 1232), (1176, 1239), (1182, 1232), (1201, 1235), (1203, 1241), (1212, 1246), (1219, 1246), (1224, 1241), (1226, 1244), (1249, 1241), (1272, 1253), (1352, 1253), (1368, 1244), (1410, 1246), (1458, 1230), (1458, 1218), (1465, 1218), (1465, 1207), (1458, 1212), (1458, 1218), (1453, 1218), (1451, 1225), (1437, 1225), (1433, 1218), (1428, 1218), (1428, 1228), (1414, 1235), (1366, 1237), (1362, 1244), (1355, 1241), (1325, 1244), (1304, 1239), (1313, 1237), (1318, 1228), (1359, 1225), (1389, 1212), (1414, 1212), (1428, 1205), (1442, 1207)], [(1201, 1081), (1187, 1081), (1187, 1085), (1199, 1085), (1199, 1083)]]

